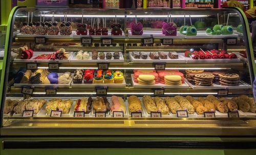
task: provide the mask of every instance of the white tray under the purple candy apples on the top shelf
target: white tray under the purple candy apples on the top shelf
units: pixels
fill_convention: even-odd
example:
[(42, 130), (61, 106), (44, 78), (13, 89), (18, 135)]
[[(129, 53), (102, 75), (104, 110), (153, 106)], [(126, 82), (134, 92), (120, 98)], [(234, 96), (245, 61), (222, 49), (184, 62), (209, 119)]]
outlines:
[(182, 39), (185, 38), (183, 35), (181, 35), (178, 31), (177, 31), (177, 36), (165, 36), (162, 31), (152, 31), (152, 30), (143, 30), (143, 34), (142, 35), (132, 35), (131, 30), (128, 31), (129, 33), (129, 38), (150, 38), (150, 37), (154, 37), (154, 38), (161, 38), (161, 39)]

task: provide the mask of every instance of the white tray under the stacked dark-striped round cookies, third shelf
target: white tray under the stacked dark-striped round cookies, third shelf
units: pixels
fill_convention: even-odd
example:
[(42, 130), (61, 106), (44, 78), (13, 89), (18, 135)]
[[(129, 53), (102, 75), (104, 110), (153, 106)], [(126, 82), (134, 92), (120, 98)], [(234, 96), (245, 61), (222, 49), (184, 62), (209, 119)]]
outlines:
[(222, 85), (218, 85), (218, 84), (212, 84), (212, 86), (195, 86), (195, 85), (191, 84), (190, 82), (188, 82), (186, 78), (184, 78), (184, 81), (193, 89), (210, 90), (210, 89), (249, 89), (249, 88), (251, 88), (251, 86), (249, 86), (248, 84), (246, 84), (243, 81), (240, 81), (238, 86), (222, 86)]

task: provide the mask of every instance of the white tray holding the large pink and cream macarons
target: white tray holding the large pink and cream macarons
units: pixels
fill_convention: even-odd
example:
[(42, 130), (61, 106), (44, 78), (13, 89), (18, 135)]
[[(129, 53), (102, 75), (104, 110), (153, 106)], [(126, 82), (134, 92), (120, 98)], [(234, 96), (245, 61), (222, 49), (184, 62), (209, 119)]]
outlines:
[(177, 88), (177, 89), (188, 89), (188, 88), (190, 88), (185, 81), (184, 81), (184, 84), (181, 84), (180, 86), (170, 86), (170, 85), (165, 85), (165, 84), (161, 84), (161, 83), (158, 83), (158, 84), (155, 84), (155, 85), (141, 85), (141, 84), (135, 83), (134, 82), (134, 77), (133, 77), (134, 74), (131, 74), (131, 75), (132, 75), (132, 85), (135, 88), (174, 88), (174, 89), (175, 88)]

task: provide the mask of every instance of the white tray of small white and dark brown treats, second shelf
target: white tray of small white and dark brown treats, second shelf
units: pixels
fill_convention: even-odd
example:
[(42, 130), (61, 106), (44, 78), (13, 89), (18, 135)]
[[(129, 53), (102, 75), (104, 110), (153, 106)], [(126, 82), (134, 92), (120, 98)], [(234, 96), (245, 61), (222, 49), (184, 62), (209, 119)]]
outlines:
[[(119, 52), (120, 58), (119, 59), (114, 59), (113, 58), (113, 54), (114, 52), (110, 52), (112, 54), (112, 58), (110, 60), (107, 60), (106, 58), (104, 60), (100, 60), (99, 58), (97, 60), (92, 60), (92, 52), (89, 52), (90, 54), (90, 59), (89, 60), (77, 60), (76, 59), (76, 54), (74, 53), (72, 55), (72, 58), (70, 59), (71, 63), (123, 63), (124, 62), (124, 58), (123, 58), (123, 54), (121, 52)], [(106, 52), (104, 52), (105, 56), (106, 56)]]

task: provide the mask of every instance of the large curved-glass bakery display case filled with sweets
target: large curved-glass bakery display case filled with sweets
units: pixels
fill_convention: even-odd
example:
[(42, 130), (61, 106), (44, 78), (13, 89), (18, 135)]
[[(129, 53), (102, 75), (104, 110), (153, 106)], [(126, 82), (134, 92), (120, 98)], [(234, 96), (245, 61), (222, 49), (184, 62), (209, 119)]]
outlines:
[[(83, 136), (112, 136), (138, 140), (120, 148), (182, 148), (169, 136), (255, 135), (256, 70), (245, 19), (236, 8), (14, 8), (1, 78), (1, 145), (23, 148), (28, 139), (13, 136), (26, 136), (39, 141), (33, 148), (55, 147), (36, 138), (48, 136), (79, 148), (87, 143), (74, 141)], [(150, 147), (162, 140), (169, 146)], [(211, 148), (198, 140), (195, 148)], [(243, 148), (229, 140), (223, 148)]]

